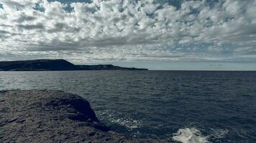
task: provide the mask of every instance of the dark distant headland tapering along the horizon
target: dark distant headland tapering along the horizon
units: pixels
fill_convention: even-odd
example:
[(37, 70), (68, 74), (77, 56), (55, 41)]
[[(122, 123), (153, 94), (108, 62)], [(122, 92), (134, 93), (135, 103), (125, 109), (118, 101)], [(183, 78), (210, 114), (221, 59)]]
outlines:
[(73, 70), (147, 70), (114, 66), (112, 64), (75, 65), (64, 59), (29, 61), (0, 61), (0, 71), (73, 71)]

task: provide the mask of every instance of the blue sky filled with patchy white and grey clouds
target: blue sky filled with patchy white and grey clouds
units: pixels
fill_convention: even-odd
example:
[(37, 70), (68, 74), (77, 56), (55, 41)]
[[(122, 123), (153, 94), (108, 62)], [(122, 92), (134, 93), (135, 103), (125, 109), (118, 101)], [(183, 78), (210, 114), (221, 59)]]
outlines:
[(255, 0), (0, 0), (0, 61), (256, 70)]

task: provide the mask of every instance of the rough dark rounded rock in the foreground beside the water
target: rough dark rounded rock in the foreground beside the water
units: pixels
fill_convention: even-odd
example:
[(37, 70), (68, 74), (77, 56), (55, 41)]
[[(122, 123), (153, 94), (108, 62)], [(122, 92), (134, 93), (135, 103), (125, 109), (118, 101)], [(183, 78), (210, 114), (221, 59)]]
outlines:
[(14, 90), (0, 92), (0, 142), (160, 141), (137, 140), (109, 131), (86, 99), (76, 95)]

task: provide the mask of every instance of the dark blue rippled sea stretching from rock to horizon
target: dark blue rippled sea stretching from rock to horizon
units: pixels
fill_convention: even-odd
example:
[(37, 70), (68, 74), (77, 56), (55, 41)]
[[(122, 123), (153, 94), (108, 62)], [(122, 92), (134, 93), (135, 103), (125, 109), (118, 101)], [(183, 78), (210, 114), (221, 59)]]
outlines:
[(137, 137), (256, 142), (255, 71), (1, 71), (2, 89), (60, 89)]

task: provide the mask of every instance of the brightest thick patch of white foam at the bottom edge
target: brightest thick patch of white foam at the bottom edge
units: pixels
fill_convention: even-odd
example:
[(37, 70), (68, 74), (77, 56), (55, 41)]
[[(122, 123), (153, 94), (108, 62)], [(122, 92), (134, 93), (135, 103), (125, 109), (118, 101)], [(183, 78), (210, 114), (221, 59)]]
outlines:
[(201, 132), (195, 128), (178, 129), (178, 132), (173, 134), (173, 141), (182, 143), (209, 143), (207, 137), (204, 137)]

